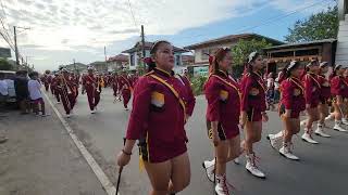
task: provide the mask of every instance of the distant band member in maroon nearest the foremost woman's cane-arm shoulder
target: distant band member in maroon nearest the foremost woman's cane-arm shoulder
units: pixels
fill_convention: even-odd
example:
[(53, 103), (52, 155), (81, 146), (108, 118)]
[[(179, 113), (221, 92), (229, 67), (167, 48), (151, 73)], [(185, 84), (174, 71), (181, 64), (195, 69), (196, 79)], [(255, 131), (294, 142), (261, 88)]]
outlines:
[(119, 78), (119, 90), (122, 93), (124, 109), (128, 110), (128, 102), (132, 96), (133, 87), (125, 68), (122, 70)]

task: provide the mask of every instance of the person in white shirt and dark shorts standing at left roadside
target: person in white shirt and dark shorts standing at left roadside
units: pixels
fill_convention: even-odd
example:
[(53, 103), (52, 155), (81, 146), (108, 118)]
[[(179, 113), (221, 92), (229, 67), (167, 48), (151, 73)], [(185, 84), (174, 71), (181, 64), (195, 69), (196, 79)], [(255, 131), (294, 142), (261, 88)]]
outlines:
[(33, 72), (29, 74), (30, 80), (28, 81), (28, 91), (29, 98), (33, 103), (33, 108), (36, 115), (39, 115), (39, 105), (40, 112), (42, 113), (42, 117), (49, 116), (45, 110), (45, 102), (41, 93), (41, 83), (38, 81), (39, 74), (37, 72)]

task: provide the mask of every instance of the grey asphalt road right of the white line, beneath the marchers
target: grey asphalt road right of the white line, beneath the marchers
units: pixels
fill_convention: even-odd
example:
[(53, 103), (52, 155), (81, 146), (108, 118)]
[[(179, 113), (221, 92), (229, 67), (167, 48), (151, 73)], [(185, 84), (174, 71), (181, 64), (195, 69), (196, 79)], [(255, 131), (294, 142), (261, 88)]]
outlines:
[[(62, 112), (62, 105), (58, 105)], [(110, 89), (102, 92), (100, 112), (89, 113), (87, 96), (79, 95), (75, 107), (75, 116), (69, 119), (72, 128), (77, 132), (86, 146), (91, 151), (110, 179), (115, 182), (115, 152), (122, 148), (122, 138), (125, 134), (129, 112), (123, 109), (120, 102), (113, 103)], [(191, 183), (181, 194), (208, 195), (213, 194), (213, 184), (208, 181), (202, 167), (202, 160), (213, 156), (213, 150), (206, 133), (206, 107), (203, 96), (197, 98), (195, 113), (187, 123), (186, 131), (189, 138), (188, 153), (191, 165)], [(348, 194), (346, 190), (348, 174), (348, 133), (334, 130), (327, 132), (331, 139), (318, 138), (319, 145), (311, 145), (294, 139), (295, 154), (300, 161), (290, 161), (274, 151), (268, 140), (268, 133), (277, 132), (281, 120), (275, 112), (269, 113), (270, 121), (263, 125), (262, 140), (254, 146), (261, 161), (259, 167), (266, 173), (261, 180), (249, 174), (245, 169), (245, 158), (241, 165), (227, 165), (227, 180), (236, 188), (233, 194), (253, 195), (326, 195)], [(332, 126), (332, 123), (331, 123)], [(132, 162), (124, 169), (121, 194), (148, 194), (149, 181), (146, 171), (139, 172), (137, 148), (134, 148)]]

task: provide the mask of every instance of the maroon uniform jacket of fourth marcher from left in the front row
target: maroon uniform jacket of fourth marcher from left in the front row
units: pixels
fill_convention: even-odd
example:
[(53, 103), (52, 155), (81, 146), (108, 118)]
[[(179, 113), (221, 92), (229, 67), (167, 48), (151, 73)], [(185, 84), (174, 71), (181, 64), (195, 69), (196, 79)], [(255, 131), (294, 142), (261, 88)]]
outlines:
[(298, 118), (306, 109), (304, 88), (298, 78), (287, 78), (282, 82), (282, 99), (279, 104), (279, 115), (285, 114), (285, 109), (291, 109), (290, 118)]

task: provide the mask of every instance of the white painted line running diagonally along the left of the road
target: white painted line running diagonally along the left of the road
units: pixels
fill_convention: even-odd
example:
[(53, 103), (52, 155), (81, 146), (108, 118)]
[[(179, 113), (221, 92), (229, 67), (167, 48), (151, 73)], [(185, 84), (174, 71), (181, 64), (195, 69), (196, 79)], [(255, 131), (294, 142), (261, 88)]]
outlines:
[[(63, 116), (61, 115), (61, 113), (59, 113), (58, 108), (54, 106), (54, 104), (52, 103), (52, 101), (49, 99), (49, 96), (44, 93), (47, 101), (49, 102), (49, 104), (51, 105), (52, 109), (54, 110), (55, 115), (58, 116), (58, 118), (60, 119), (60, 121), (62, 122), (64, 129), (66, 130), (66, 132), (69, 133), (69, 135), (71, 136), (71, 139), (74, 141), (76, 147), (78, 148), (78, 151), (80, 152), (80, 154), (84, 156), (84, 158), (86, 159), (86, 161), (88, 162), (89, 167), (92, 169), (92, 171), (95, 172), (95, 174), (97, 176), (99, 182), (101, 183), (101, 185), (103, 186), (103, 188), (105, 190), (108, 195), (115, 195), (116, 193), (116, 187), (112, 184), (112, 182), (109, 180), (109, 178), (107, 177), (107, 174), (104, 173), (104, 171), (101, 169), (101, 167), (98, 165), (98, 162), (96, 161), (96, 159), (92, 157), (92, 155), (87, 151), (87, 148), (85, 147), (85, 145), (83, 144), (83, 142), (77, 138), (77, 135), (74, 133), (73, 129), (70, 127), (70, 125), (67, 123), (67, 121), (63, 118)], [(120, 195), (120, 193), (117, 194)]]

